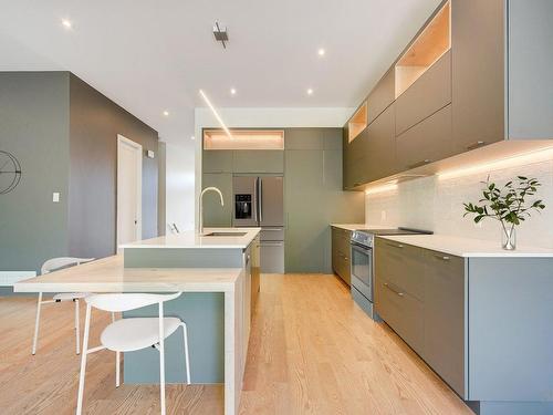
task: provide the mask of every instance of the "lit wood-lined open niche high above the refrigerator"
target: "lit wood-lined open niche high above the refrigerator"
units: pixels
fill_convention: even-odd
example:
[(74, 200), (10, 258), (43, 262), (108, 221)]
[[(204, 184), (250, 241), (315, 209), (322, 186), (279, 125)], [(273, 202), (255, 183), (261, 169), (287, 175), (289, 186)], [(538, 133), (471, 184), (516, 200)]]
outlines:
[(205, 129), (204, 149), (284, 149), (284, 131)]

